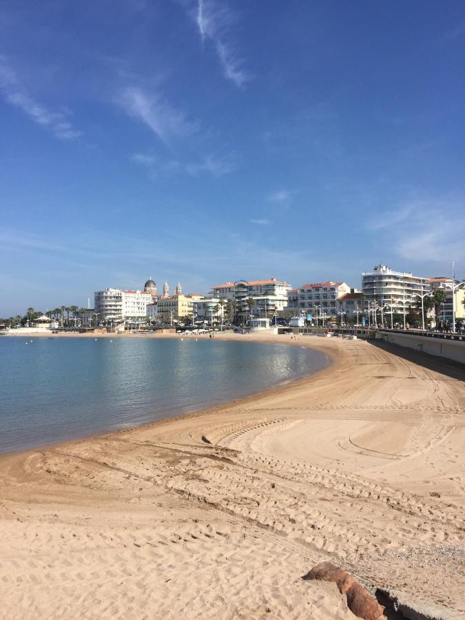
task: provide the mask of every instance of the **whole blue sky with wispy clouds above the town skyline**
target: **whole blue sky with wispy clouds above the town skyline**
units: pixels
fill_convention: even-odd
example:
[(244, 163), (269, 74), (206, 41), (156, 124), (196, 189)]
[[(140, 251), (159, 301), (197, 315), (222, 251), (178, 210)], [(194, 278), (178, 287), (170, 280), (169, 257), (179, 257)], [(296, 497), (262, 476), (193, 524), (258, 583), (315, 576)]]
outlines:
[(0, 316), (465, 278), (465, 5), (2, 0)]

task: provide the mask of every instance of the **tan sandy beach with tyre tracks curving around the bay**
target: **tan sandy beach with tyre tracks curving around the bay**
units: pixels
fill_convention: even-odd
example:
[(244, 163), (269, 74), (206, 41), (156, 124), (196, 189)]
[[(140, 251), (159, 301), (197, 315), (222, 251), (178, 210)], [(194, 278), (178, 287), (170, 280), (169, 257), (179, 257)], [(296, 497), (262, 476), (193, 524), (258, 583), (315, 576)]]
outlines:
[(360, 340), (271, 340), (334, 363), (1, 457), (1, 617), (354, 618), (333, 583), (301, 579), (330, 560), (465, 618), (464, 371)]

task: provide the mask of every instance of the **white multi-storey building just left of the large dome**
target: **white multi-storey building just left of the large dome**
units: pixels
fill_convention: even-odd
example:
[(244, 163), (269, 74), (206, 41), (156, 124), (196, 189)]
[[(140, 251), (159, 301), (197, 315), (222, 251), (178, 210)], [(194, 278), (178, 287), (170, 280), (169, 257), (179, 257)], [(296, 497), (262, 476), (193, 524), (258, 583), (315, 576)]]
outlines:
[(109, 287), (94, 293), (94, 309), (104, 320), (145, 317), (147, 304), (151, 303), (152, 294), (147, 291), (122, 291)]

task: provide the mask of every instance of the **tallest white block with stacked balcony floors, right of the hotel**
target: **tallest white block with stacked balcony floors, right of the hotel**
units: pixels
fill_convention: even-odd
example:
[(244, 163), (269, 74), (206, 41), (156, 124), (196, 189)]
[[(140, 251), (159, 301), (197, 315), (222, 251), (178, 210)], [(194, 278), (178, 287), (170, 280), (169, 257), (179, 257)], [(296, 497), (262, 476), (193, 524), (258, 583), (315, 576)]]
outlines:
[(362, 293), (365, 307), (377, 302), (395, 313), (407, 312), (409, 305), (415, 305), (420, 297), (416, 293), (426, 293), (430, 289), (429, 278), (413, 276), (410, 271), (393, 271), (386, 265), (377, 265), (373, 271), (362, 273)]

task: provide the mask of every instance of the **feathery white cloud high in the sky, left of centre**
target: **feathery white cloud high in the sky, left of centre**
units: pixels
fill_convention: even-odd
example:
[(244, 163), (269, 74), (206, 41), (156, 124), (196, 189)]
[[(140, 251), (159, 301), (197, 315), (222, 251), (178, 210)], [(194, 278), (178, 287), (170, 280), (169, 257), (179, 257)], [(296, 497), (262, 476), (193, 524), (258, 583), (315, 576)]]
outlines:
[(172, 136), (198, 131), (198, 124), (187, 121), (184, 112), (176, 110), (163, 96), (148, 94), (140, 87), (127, 87), (116, 97), (116, 103), (126, 114), (145, 123), (165, 145), (169, 145)]

